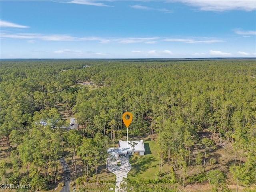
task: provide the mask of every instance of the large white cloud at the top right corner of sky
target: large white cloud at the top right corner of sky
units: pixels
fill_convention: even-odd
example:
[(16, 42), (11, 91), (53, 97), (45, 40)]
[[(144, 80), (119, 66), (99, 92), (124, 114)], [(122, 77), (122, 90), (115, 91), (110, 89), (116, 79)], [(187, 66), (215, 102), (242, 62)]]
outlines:
[(187, 0), (181, 1), (189, 6), (198, 7), (202, 11), (228, 11), (228, 10), (243, 10), (252, 11), (256, 9), (256, 1), (254, 0)]

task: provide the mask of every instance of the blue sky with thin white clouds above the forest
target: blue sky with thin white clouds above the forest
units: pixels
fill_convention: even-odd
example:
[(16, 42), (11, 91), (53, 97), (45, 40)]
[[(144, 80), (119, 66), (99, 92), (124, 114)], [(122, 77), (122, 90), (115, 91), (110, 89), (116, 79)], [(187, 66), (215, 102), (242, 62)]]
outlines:
[(1, 58), (256, 57), (256, 1), (0, 1)]

